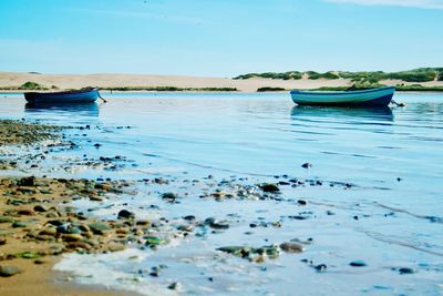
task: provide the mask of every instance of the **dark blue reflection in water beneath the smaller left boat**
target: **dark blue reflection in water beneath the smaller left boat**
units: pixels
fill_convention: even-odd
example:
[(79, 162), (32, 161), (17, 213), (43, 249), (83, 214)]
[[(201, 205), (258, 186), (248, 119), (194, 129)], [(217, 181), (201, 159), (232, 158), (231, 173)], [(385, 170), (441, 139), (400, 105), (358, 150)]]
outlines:
[(27, 103), (24, 112), (31, 114), (56, 113), (61, 116), (99, 116), (99, 105), (96, 103)]

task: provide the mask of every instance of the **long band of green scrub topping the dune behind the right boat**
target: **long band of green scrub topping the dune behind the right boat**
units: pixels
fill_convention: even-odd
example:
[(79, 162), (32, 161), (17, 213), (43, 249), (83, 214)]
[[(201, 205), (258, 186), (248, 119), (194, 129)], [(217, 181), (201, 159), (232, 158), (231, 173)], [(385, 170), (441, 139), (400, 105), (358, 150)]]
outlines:
[(307, 75), (308, 79), (317, 80), (317, 79), (350, 79), (356, 83), (379, 83), (382, 80), (402, 80), (405, 82), (429, 82), (429, 81), (443, 81), (443, 68), (419, 68), (409, 71), (400, 71), (400, 72), (383, 72), (383, 71), (372, 71), (372, 72), (349, 72), (349, 71), (339, 71), (339, 72), (326, 72), (318, 73), (315, 71), (289, 71), (284, 73), (276, 72), (266, 72), (266, 73), (249, 73), (238, 75), (234, 79), (251, 79), (251, 78), (267, 78), (267, 79), (282, 79), (282, 80), (298, 80), (301, 79), (302, 75)]

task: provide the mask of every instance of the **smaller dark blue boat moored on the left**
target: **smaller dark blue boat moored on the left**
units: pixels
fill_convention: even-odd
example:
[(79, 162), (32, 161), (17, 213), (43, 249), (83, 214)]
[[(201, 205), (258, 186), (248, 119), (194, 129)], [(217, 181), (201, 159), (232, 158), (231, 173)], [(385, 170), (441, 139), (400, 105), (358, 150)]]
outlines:
[(32, 104), (93, 103), (100, 96), (97, 88), (63, 92), (27, 92), (24, 99)]

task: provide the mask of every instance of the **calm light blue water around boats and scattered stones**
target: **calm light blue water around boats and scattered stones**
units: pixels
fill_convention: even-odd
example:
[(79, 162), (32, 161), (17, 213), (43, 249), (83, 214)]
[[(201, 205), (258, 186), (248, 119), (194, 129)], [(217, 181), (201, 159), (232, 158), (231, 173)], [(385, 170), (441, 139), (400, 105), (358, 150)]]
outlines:
[[(70, 154), (55, 153), (42, 171), (27, 169), (24, 173), (134, 180), (158, 175), (175, 177), (178, 183), (209, 174), (217, 180), (247, 177), (258, 183), (287, 174), (354, 186), (284, 190), (286, 198), (311, 202), (302, 208), (285, 201), (202, 201), (196, 197), (198, 187), (185, 185), (156, 188), (156, 193), (189, 194), (179, 205), (168, 205), (152, 190), (141, 188), (137, 196), (113, 203), (97, 215), (113, 215), (127, 203), (138, 215), (150, 216), (158, 213), (144, 206), (155, 203), (169, 218), (185, 214), (216, 216), (227, 218), (231, 227), (155, 253), (130, 249), (102, 256), (68, 256), (60, 268), (75, 271), (79, 280), (138, 292), (157, 287), (158, 293), (165, 293), (171, 280), (178, 280), (184, 292), (197, 295), (443, 293), (442, 94), (396, 94), (395, 100), (408, 106), (393, 110), (301, 108), (286, 94), (138, 93), (105, 98), (110, 103), (35, 110), (25, 108), (21, 95), (2, 94), (2, 119), (92, 126), (86, 135), (71, 132), (80, 147)], [(94, 143), (102, 146), (95, 149)], [(126, 162), (116, 171), (80, 165), (60, 170), (60, 164), (75, 162), (83, 154), (123, 155)], [(312, 167), (302, 169), (306, 162)], [(310, 218), (287, 218), (302, 212)], [(280, 221), (282, 227), (249, 228), (257, 221)], [(248, 231), (253, 233), (246, 235)], [(261, 246), (308, 237), (315, 243), (305, 253), (282, 254), (265, 264), (215, 252), (224, 245)], [(127, 259), (134, 254), (136, 262)], [(327, 264), (327, 272), (317, 273), (300, 262), (305, 258)], [(356, 259), (368, 266), (350, 267)], [(137, 277), (134, 271), (155, 264), (169, 268), (158, 279), (140, 276), (137, 283), (131, 280)], [(93, 275), (90, 266), (95, 267)], [(401, 275), (401, 267), (415, 273)]]

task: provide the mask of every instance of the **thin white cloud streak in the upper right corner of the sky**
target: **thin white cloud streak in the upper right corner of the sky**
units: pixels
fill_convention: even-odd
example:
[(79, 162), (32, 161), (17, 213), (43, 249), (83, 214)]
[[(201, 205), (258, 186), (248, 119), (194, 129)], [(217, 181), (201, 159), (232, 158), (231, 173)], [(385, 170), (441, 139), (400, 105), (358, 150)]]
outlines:
[(332, 3), (443, 9), (443, 0), (323, 0)]

